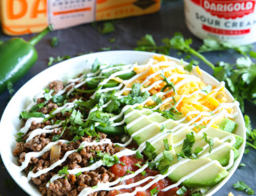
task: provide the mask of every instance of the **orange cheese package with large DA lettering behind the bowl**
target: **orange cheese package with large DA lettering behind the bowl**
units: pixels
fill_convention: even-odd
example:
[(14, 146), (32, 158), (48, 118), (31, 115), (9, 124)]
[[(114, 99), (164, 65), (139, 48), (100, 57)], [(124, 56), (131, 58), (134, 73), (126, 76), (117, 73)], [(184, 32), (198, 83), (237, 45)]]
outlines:
[(7, 35), (64, 29), (79, 24), (140, 16), (160, 10), (160, 0), (1, 0), (1, 24)]

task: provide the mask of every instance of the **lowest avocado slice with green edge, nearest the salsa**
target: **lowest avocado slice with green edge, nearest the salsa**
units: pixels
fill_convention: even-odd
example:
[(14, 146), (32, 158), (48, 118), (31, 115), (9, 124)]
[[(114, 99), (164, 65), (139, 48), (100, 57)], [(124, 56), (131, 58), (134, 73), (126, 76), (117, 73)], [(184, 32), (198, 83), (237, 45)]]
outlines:
[[(196, 171), (196, 169), (203, 167), (203, 165), (209, 162), (211, 162), (211, 159), (209, 158), (192, 159), (179, 165), (168, 177), (173, 182), (178, 182), (182, 177)], [(213, 163), (209, 165), (209, 167), (206, 167), (202, 171), (184, 180), (182, 185), (187, 186), (188, 188), (215, 186), (226, 176), (228, 176), (228, 171), (226, 171), (226, 169), (219, 163)]]

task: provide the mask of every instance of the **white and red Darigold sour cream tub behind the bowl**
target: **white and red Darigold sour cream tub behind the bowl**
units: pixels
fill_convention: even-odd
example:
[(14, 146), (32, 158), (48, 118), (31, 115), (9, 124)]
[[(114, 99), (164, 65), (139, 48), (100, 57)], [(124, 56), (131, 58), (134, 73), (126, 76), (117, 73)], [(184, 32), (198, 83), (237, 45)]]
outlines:
[(256, 0), (184, 0), (188, 29), (200, 39), (256, 42)]

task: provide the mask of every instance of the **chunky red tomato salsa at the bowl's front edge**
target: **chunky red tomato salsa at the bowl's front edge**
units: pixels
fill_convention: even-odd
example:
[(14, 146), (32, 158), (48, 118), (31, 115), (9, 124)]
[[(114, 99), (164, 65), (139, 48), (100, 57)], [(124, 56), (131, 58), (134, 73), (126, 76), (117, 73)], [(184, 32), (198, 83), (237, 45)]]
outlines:
[[(112, 173), (115, 174), (115, 178), (120, 178), (122, 176), (125, 176), (125, 174), (127, 174), (127, 171), (132, 171), (132, 172), (135, 172), (139, 169), (139, 167), (135, 164), (137, 163), (140, 163), (140, 165), (143, 165), (143, 160), (142, 159), (137, 159), (136, 157), (134, 156), (123, 156), (119, 159), (119, 161), (121, 163), (119, 164), (115, 164), (113, 165), (111, 168), (110, 168), (110, 171)], [(122, 184), (131, 184), (131, 183), (134, 183), (134, 182), (138, 182), (148, 176), (156, 176), (157, 174), (159, 174), (158, 171), (154, 171), (152, 169), (149, 169), (149, 168), (146, 168), (146, 174), (144, 174), (144, 176), (142, 174), (138, 174), (136, 175), (135, 177), (133, 178), (130, 178), (128, 180), (125, 180), (123, 182), (121, 182)], [(146, 184), (148, 184), (150, 181), (152, 180), (148, 180), (147, 182), (143, 183), (143, 184), (140, 184), (139, 186), (145, 186)], [(158, 181), (157, 183), (153, 184), (150, 188), (146, 189), (145, 191), (139, 191), (137, 192), (136, 196), (144, 196), (144, 195), (152, 195), (150, 193), (150, 191), (152, 189), (158, 189), (158, 190), (161, 190), (167, 186), (170, 186), (171, 184), (173, 184), (171, 182), (171, 180), (169, 180), (168, 178), (164, 178), (163, 180), (160, 180)], [(108, 193), (108, 196), (114, 196), (114, 195), (118, 195), (118, 194), (121, 194), (121, 193), (131, 193), (135, 190), (135, 188), (139, 187), (139, 186), (135, 186), (133, 188), (129, 188), (129, 189), (120, 189), (120, 190), (114, 190), (114, 191), (110, 191)], [(176, 187), (176, 188), (172, 188), (172, 189), (169, 189), (168, 191), (160, 191), (158, 193), (158, 196), (170, 196), (170, 195), (177, 195), (177, 190), (179, 189), (179, 187)], [(185, 193), (184, 195), (188, 195), (188, 193)]]

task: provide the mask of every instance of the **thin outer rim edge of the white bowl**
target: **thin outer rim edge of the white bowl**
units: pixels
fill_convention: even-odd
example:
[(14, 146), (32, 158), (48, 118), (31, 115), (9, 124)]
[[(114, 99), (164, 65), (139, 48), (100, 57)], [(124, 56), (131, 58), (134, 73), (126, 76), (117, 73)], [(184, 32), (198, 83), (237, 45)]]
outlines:
[[(30, 84), (31, 82), (33, 82), (33, 80), (35, 80), (35, 78), (39, 78), (39, 76), (47, 73), (48, 71), (50, 71), (51, 69), (61, 69), (62, 65), (66, 64), (66, 63), (70, 63), (72, 64), (72, 61), (76, 61), (78, 59), (89, 59), (90, 57), (93, 57), (93, 56), (97, 56), (97, 55), (102, 55), (102, 54), (109, 54), (110, 56), (111, 55), (117, 55), (118, 54), (127, 54), (127, 55), (135, 55), (135, 54), (142, 54), (145, 56), (146, 58), (146, 55), (148, 56), (163, 56), (162, 54), (157, 54), (157, 53), (154, 53), (154, 52), (142, 52), (142, 51), (134, 51), (134, 50), (112, 50), (112, 51), (106, 51), (106, 52), (95, 52), (95, 53), (92, 53), (92, 54), (85, 54), (85, 55), (82, 55), (82, 56), (77, 56), (77, 57), (72, 57), (71, 59), (68, 59), (66, 61), (62, 61), (60, 63), (56, 63), (56, 65), (53, 65), (51, 67), (48, 67), (47, 69), (44, 69), (43, 71), (41, 71), (40, 73), (37, 73), (35, 74), (35, 76), (33, 76), (32, 78), (30, 78), (30, 80), (28, 80), (28, 82), (26, 82), (18, 91), (16, 91), (16, 93), (14, 94), (14, 96), (12, 97), (12, 99), (9, 101), (9, 103), (7, 104), (7, 106), (5, 107), (5, 110), (3, 111), (3, 115), (1, 117), (1, 120), (0, 120), (0, 133), (1, 133), (1, 130), (3, 130), (5, 127), (4, 127), (4, 123), (3, 123), (3, 119), (7, 118), (6, 115), (7, 115), (7, 110), (9, 110), (9, 107), (12, 105), (12, 102), (14, 102), (16, 99), (17, 99), (17, 96), (20, 94), (20, 92), (25, 88), (25, 86), (28, 86), (28, 84)], [(182, 65), (188, 65), (188, 62), (186, 61), (182, 61), (181, 59), (177, 59), (175, 57), (171, 57), (171, 56), (166, 56), (168, 59), (172, 59), (173, 61), (176, 61), (177, 63), (181, 64)], [(95, 59), (95, 57), (94, 57)], [(148, 58), (147, 58), (148, 59)], [(107, 61), (107, 60), (106, 60)], [(137, 59), (135, 58), (135, 62), (137, 61)], [(145, 59), (146, 61), (146, 59)], [(88, 66), (88, 65), (87, 65)], [(86, 67), (87, 67), (86, 66)], [(193, 65), (194, 67), (194, 65)], [(72, 68), (72, 65), (70, 65), (70, 68)], [(195, 68), (195, 67), (194, 67)], [(204, 76), (202, 78), (202, 80), (205, 80), (205, 76), (208, 77), (209, 79), (211, 79), (215, 84), (220, 84), (220, 82), (214, 78), (213, 76), (211, 76), (211, 74), (207, 73), (206, 71), (202, 71), (202, 76)], [(194, 74), (196, 74), (196, 72), (194, 72)], [(198, 75), (199, 76), (199, 75)], [(46, 80), (45, 81), (45, 86), (47, 86), (49, 84), (49, 82), (51, 82), (51, 80)], [(226, 90), (225, 88), (225, 93), (228, 95), (228, 97), (230, 97), (231, 101), (234, 101), (234, 97), (231, 95), (231, 93)], [(238, 116), (243, 116), (242, 115), (242, 111), (240, 110), (239, 106), (236, 108), (237, 112), (238, 112)], [(207, 193), (205, 194), (205, 196), (209, 196), (209, 195), (213, 195), (214, 193), (216, 193), (219, 189), (221, 189), (224, 184), (226, 184), (226, 182), (231, 178), (231, 176), (234, 174), (234, 172), (236, 171), (241, 159), (242, 159), (242, 156), (244, 154), (244, 148), (245, 148), (245, 141), (246, 141), (246, 135), (245, 135), (245, 122), (244, 122), (244, 118), (242, 118), (242, 121), (240, 119), (240, 125), (242, 125), (241, 129), (242, 129), (242, 133), (243, 135), (240, 135), (243, 139), (244, 139), (244, 142), (242, 144), (242, 146), (240, 146), (239, 148), (239, 152), (240, 152), (240, 155), (239, 157), (236, 159), (236, 161), (234, 162), (234, 165), (232, 166), (232, 168), (228, 171), (229, 174), (228, 176), (226, 176), (226, 178), (224, 178), (221, 182), (219, 182), (219, 184), (217, 184), (216, 186), (213, 186), (209, 189), (209, 191), (207, 191)], [(18, 130), (16, 130), (18, 131)], [(24, 187), (21, 183), (21, 180), (20, 178), (18, 178), (17, 176), (15, 176), (12, 172), (12, 167), (11, 165), (8, 164), (8, 162), (10, 160), (7, 160), (5, 159), (5, 151), (3, 150), (4, 146), (3, 146), (3, 142), (1, 142), (1, 140), (3, 140), (4, 137), (0, 137), (0, 153), (1, 153), (1, 157), (2, 157), (2, 160), (3, 160), (3, 163), (5, 165), (5, 168), (7, 169), (7, 171), (9, 172), (9, 174), (11, 175), (12, 179), (16, 182), (16, 184), (18, 184), (18, 186), (20, 186), (20, 188), (22, 188), (26, 193), (28, 193), (29, 195), (32, 195), (34, 194), (35, 192), (32, 192), (30, 189)], [(10, 144), (11, 145), (11, 144)], [(11, 147), (11, 146), (9, 146)], [(13, 150), (13, 149), (12, 149)], [(12, 152), (12, 151), (11, 151)], [(12, 155), (12, 157), (14, 157), (14, 155)], [(15, 157), (16, 158), (16, 157)], [(25, 175), (26, 176), (26, 175)], [(31, 182), (30, 182), (31, 183)], [(32, 186), (32, 187), (35, 187), (35, 186)], [(36, 192), (39, 193), (38, 190), (36, 190)], [(41, 195), (41, 194), (40, 194)]]

